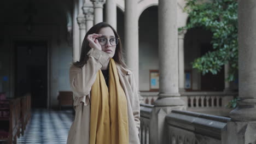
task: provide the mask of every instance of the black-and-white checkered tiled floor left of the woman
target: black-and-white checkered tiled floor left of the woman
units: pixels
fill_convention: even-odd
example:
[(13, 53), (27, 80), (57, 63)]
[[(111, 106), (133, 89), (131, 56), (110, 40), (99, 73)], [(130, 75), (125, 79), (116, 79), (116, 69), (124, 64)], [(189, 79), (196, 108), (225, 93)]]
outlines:
[(25, 134), (20, 136), (17, 143), (64, 144), (67, 141), (68, 130), (72, 122), (71, 110), (33, 110)]

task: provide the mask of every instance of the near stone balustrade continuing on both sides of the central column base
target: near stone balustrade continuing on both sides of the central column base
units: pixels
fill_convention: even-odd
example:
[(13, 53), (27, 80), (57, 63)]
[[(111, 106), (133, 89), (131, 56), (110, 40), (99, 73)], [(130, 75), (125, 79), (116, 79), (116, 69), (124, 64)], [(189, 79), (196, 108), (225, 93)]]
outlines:
[[(153, 143), (157, 139), (150, 135), (155, 124), (153, 105), (141, 104), (141, 128), (139, 138), (142, 144)], [(155, 121), (155, 122), (153, 122)], [(190, 111), (172, 110), (165, 116), (162, 142), (171, 144), (221, 144), (225, 139), (225, 127), (230, 118), (207, 115)], [(160, 124), (161, 125), (161, 124)]]

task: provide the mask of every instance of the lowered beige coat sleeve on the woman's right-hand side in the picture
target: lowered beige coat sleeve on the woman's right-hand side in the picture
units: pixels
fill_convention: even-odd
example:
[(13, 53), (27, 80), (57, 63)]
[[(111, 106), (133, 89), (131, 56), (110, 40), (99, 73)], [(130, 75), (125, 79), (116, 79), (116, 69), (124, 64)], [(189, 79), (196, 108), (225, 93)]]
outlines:
[(137, 86), (136, 86), (135, 78), (134, 78), (133, 74), (131, 74), (130, 83), (131, 83), (131, 88), (132, 88), (132, 92), (133, 92), (133, 101), (131, 101), (131, 103), (132, 103), (132, 112), (133, 112), (136, 127), (139, 131), (139, 127), (140, 127), (140, 121), (139, 121), (140, 106), (139, 106), (138, 90), (137, 90)]

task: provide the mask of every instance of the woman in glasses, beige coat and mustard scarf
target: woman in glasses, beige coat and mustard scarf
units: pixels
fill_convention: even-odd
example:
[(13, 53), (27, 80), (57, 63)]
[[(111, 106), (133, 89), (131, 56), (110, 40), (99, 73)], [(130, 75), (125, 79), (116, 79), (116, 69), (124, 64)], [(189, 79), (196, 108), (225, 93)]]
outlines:
[(139, 100), (117, 32), (101, 22), (86, 33), (69, 71), (75, 119), (67, 143), (139, 143)]

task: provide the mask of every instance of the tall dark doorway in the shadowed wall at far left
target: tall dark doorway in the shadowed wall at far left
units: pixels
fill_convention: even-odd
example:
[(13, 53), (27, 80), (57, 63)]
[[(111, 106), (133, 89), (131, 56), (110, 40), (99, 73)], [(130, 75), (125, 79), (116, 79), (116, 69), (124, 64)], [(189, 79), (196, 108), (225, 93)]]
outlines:
[(15, 42), (15, 97), (25, 93), (32, 108), (47, 107), (47, 41)]

